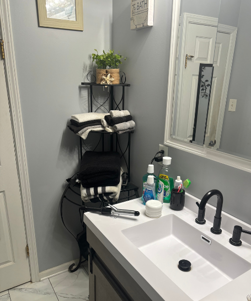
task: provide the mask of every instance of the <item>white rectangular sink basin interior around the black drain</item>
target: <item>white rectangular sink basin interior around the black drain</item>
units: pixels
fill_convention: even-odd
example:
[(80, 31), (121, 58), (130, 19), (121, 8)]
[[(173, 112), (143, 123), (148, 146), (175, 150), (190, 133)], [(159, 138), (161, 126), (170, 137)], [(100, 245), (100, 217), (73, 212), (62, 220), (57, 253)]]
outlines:
[[(218, 242), (201, 240), (204, 233), (173, 214), (122, 233), (194, 301), (251, 269), (249, 262)], [(178, 268), (181, 259), (191, 262), (189, 272)]]

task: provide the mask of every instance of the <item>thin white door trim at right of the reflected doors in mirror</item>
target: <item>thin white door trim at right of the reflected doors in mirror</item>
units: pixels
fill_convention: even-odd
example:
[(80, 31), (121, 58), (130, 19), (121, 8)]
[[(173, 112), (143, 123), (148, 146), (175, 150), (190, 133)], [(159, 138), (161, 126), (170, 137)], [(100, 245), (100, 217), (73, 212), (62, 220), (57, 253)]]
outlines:
[(212, 147), (212, 149), (217, 149), (220, 146), (221, 131), (223, 126), (224, 114), (225, 114), (228, 86), (229, 86), (229, 81), (231, 76), (233, 53), (235, 48), (236, 36), (237, 36), (237, 28), (233, 26), (218, 24), (217, 32), (230, 34), (230, 40), (229, 40), (229, 47), (228, 47), (227, 58), (226, 58), (226, 71), (224, 75), (224, 81), (223, 81), (223, 87), (222, 87), (222, 93), (220, 99), (219, 116), (218, 116), (218, 122), (216, 127), (216, 136), (215, 136), (216, 144), (214, 147)]

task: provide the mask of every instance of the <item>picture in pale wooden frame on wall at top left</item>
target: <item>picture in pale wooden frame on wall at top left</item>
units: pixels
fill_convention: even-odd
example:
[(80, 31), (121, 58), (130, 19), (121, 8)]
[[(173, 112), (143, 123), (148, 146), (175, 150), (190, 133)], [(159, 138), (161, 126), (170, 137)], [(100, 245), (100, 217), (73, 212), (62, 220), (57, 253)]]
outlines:
[(39, 26), (84, 30), (83, 0), (37, 0)]

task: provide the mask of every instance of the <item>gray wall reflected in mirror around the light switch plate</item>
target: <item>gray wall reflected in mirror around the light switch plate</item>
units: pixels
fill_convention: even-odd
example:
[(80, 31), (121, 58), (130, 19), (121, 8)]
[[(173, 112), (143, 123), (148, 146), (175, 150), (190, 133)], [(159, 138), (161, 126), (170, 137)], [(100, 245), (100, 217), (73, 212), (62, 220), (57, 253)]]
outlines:
[[(248, 159), (251, 159), (250, 11), (250, 0), (242, 0), (220, 140), (221, 150)], [(228, 111), (230, 99), (237, 99), (235, 112)]]

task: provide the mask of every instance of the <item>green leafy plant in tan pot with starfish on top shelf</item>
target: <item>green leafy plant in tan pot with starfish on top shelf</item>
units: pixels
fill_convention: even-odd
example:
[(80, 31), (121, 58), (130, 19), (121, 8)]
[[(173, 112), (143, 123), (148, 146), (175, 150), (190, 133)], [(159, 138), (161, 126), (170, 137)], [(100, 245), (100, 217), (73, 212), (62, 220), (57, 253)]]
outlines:
[[(118, 66), (122, 64), (121, 59), (123, 58), (120, 53), (114, 54), (114, 50), (110, 50), (107, 53), (98, 54), (98, 51), (94, 49), (96, 53), (92, 53), (92, 61), (97, 65), (96, 69), (96, 83), (100, 84), (104, 82), (104, 78), (110, 74), (110, 83), (117, 85), (119, 84), (119, 68)], [(127, 58), (124, 58), (126, 61)], [(106, 83), (107, 80), (106, 80)]]

